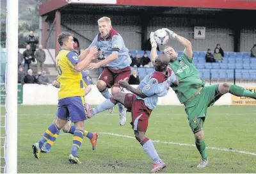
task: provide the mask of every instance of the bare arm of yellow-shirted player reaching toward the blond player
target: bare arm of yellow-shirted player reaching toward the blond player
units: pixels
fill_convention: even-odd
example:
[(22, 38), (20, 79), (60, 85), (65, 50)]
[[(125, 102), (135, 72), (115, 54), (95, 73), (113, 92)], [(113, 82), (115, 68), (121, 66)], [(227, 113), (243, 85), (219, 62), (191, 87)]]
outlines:
[(77, 72), (81, 72), (85, 67), (87, 67), (92, 59), (95, 59), (95, 54), (97, 54), (99, 51), (97, 49), (96, 46), (93, 46), (91, 49), (90, 49), (90, 52), (88, 53), (88, 55), (86, 56), (86, 58), (84, 58), (82, 61), (80, 61), (79, 63), (76, 64), (76, 67), (74, 67), (74, 69), (77, 71)]

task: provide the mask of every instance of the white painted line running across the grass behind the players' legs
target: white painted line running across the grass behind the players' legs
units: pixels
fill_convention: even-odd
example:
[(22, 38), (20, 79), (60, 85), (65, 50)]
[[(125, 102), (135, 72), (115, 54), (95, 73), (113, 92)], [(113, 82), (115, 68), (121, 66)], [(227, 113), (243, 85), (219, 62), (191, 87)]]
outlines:
[[(99, 134), (107, 134), (111, 136), (119, 136), (119, 137), (124, 137), (124, 138), (132, 138), (135, 139), (133, 136), (125, 136), (125, 135), (120, 135), (120, 134), (112, 134), (108, 132), (100, 132)], [(152, 142), (156, 143), (164, 143), (164, 144), (171, 144), (171, 145), (179, 145), (179, 146), (195, 146), (195, 145), (190, 145), (186, 143), (175, 143), (175, 142), (166, 142), (166, 141), (159, 141), (159, 140), (151, 140)], [(226, 152), (234, 152), (234, 153), (239, 153), (239, 154), (248, 154), (248, 155), (256, 155), (256, 153), (253, 152), (246, 152), (246, 151), (241, 151), (241, 150), (230, 150), (228, 148), (218, 148), (218, 147), (206, 147), (207, 149), (212, 149), (212, 150), (220, 150), (220, 151), (226, 151)]]

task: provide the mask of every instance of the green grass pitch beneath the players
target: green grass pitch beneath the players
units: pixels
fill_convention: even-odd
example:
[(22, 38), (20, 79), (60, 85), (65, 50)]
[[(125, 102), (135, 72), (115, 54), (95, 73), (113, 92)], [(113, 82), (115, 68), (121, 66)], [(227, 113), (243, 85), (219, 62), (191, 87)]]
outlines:
[[(148, 173), (151, 170), (152, 161), (136, 139), (100, 134), (134, 136), (129, 125), (131, 114), (127, 113), (127, 123), (120, 127), (117, 108), (113, 115), (104, 112), (85, 122), (86, 130), (99, 132), (100, 137), (95, 151), (92, 151), (90, 141), (84, 138), (78, 152), (83, 164), (68, 162), (72, 145), (70, 134), (60, 134), (51, 154), (41, 154), (40, 159), (35, 159), (31, 145), (41, 138), (55, 113), (56, 106), (19, 106), (19, 173)], [(207, 115), (207, 146), (256, 153), (255, 107), (214, 106), (208, 109)], [(256, 173), (256, 155), (208, 149), (209, 165), (204, 170), (197, 170), (200, 155), (195, 146), (161, 143), (195, 144), (181, 106), (157, 106), (149, 119), (147, 137), (160, 141), (154, 145), (167, 165), (161, 173)]]

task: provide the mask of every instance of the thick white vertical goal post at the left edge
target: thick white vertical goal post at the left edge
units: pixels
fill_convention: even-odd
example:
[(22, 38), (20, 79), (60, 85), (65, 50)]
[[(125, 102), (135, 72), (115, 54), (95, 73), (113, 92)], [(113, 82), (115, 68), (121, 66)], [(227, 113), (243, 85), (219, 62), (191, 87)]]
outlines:
[(7, 0), (6, 144), (4, 173), (17, 173), (17, 75), (19, 0)]

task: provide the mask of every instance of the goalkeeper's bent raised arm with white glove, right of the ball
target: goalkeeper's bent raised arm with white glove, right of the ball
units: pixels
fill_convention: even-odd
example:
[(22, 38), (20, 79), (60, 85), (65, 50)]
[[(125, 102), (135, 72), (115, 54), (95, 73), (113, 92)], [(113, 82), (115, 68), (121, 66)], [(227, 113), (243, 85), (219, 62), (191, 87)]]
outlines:
[(188, 56), (189, 59), (192, 59), (193, 51), (192, 51), (191, 42), (188, 39), (177, 35), (176, 33), (174, 33), (172, 30), (170, 30), (168, 28), (163, 28), (163, 29), (168, 33), (170, 38), (176, 38), (176, 40), (179, 41), (185, 47), (184, 54), (186, 54), (186, 56)]

